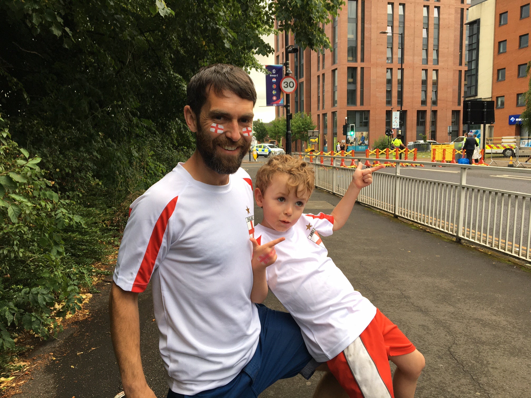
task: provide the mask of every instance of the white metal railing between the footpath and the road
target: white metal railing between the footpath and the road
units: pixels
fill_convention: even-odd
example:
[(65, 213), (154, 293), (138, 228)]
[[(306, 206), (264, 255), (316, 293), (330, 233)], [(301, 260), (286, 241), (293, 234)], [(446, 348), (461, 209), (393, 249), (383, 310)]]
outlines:
[[(331, 166), (332, 157), (323, 155), (322, 158), (327, 161), (321, 164), (321, 155), (312, 157), (315, 186), (344, 195), (354, 168)], [(339, 156), (333, 158), (341, 159)], [(346, 164), (349, 164), (347, 159), (348, 162), (352, 160), (350, 157), (344, 159)], [(375, 160), (355, 159), (356, 162)], [(308, 155), (306, 161), (309, 161)], [(531, 194), (467, 184), (469, 169), (486, 169), (486, 166), (436, 163), (446, 170), (459, 172), (459, 182), (451, 183), (402, 175), (404, 167), (400, 166), (400, 161), (383, 161), (395, 163), (396, 167), (391, 168), (391, 172), (375, 172), (373, 183), (362, 189), (358, 202), (389, 212), (395, 217), (449, 233), (458, 241), (463, 239), (520, 259), (531, 259)], [(407, 162), (430, 168), (434, 165), (432, 162)], [(488, 170), (508, 171), (506, 167), (491, 166)], [(513, 168), (510, 171), (531, 176), (531, 170)]]

